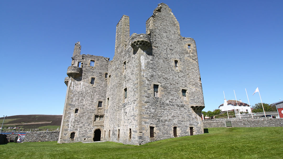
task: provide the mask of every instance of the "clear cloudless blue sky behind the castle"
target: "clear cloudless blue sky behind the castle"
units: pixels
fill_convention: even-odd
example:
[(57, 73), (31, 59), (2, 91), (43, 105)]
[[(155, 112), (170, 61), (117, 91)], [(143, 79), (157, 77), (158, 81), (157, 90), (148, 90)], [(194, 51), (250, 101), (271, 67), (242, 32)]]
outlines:
[(226, 99), (250, 104), (283, 100), (283, 1), (1, 1), (0, 117), (63, 114), (74, 44), (82, 54), (114, 56), (123, 14), (130, 34), (166, 3), (181, 35), (197, 45), (205, 108)]

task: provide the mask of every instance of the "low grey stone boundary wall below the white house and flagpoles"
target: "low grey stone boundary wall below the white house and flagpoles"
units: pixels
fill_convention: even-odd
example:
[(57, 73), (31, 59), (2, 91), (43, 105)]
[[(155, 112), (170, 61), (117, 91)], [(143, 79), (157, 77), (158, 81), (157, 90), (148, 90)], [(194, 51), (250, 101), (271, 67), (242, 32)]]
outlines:
[(203, 128), (226, 127), (225, 121), (231, 121), (232, 127), (283, 127), (283, 118), (232, 118), (203, 120)]

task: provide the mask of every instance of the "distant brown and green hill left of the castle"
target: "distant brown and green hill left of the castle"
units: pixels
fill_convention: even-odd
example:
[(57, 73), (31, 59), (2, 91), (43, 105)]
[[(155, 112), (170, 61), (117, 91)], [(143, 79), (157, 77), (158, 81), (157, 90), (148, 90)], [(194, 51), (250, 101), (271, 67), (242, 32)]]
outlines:
[[(3, 122), (4, 117), (0, 118), (0, 123)], [(3, 128), (20, 127), (23, 131), (30, 129), (40, 129), (41, 131), (48, 129), (56, 130), (60, 128), (62, 115), (18, 115), (5, 117)], [(0, 125), (1, 126), (1, 125)], [(2, 131), (18, 129), (3, 129)], [(38, 130), (38, 131), (40, 131)], [(22, 130), (21, 130), (22, 131)]]

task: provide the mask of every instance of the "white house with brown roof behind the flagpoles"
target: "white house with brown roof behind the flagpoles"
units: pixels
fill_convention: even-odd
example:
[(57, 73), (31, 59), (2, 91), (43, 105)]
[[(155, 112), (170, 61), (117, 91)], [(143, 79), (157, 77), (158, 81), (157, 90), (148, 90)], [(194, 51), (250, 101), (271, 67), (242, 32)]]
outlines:
[(230, 111), (230, 110), (238, 110), (239, 112), (248, 112), (252, 113), (252, 110), (250, 108), (249, 104), (243, 103), (241, 100), (226, 100), (224, 99), (224, 103), (218, 106), (218, 108), (224, 112), (224, 111)]

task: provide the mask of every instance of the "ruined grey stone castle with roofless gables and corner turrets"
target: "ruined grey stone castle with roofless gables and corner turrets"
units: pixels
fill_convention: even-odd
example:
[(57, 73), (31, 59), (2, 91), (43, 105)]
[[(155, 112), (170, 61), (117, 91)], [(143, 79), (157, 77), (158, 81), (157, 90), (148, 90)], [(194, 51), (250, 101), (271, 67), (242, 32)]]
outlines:
[(158, 4), (146, 34), (116, 26), (113, 60), (80, 54), (75, 44), (58, 143), (140, 145), (203, 134), (203, 92), (196, 43), (180, 35), (168, 5)]

